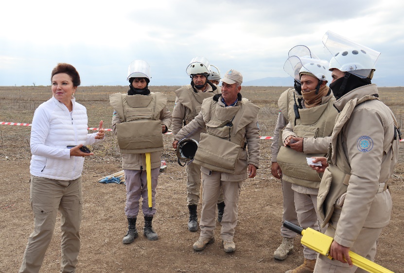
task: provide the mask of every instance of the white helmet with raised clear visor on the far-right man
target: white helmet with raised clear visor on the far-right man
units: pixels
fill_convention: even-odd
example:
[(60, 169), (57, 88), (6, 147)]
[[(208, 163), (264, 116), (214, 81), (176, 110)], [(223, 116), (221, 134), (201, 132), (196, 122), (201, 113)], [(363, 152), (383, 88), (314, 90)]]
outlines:
[(343, 72), (350, 72), (360, 78), (367, 78), (380, 52), (351, 41), (331, 31), (323, 36), (324, 51), (331, 53), (329, 69), (337, 68)]

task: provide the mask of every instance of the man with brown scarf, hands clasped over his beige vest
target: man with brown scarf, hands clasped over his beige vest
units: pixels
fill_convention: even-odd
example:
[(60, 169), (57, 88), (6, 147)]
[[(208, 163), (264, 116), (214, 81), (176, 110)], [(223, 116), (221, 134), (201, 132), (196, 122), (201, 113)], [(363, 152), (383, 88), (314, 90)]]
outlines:
[[(316, 201), (320, 176), (307, 164), (307, 157), (327, 154), (337, 111), (335, 98), (328, 88), (328, 62), (305, 56), (291, 56), (285, 65), (301, 67), (299, 76), (302, 99), (296, 100), (295, 119), (283, 130), (277, 160), (282, 179), (292, 183), (295, 208), (300, 226), (320, 231)], [(317, 253), (304, 246), (304, 262), (287, 273), (313, 272)]]

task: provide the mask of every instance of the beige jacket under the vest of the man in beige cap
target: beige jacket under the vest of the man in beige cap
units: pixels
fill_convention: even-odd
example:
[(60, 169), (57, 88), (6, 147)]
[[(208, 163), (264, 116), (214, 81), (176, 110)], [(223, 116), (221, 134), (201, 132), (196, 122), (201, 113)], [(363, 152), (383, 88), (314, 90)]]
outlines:
[[(208, 101), (211, 99), (206, 99), (205, 101)], [(245, 99), (243, 99), (245, 100)], [(205, 102), (204, 101), (204, 102)], [(211, 103), (211, 101), (209, 101)], [(240, 103), (240, 102), (238, 102)], [(222, 96), (219, 97), (218, 100), (218, 107), (225, 107), (225, 104), (222, 102)], [(229, 106), (231, 107), (231, 106)], [(203, 119), (204, 115), (202, 111), (199, 113), (198, 116), (195, 117), (189, 124), (187, 124), (185, 127), (183, 127), (175, 136), (175, 140), (181, 140), (185, 136), (192, 135), (193, 132), (197, 132), (198, 129), (202, 129), (206, 131), (206, 123), (205, 120)], [(208, 121), (209, 122), (209, 121)], [(257, 169), (259, 168), (259, 162), (260, 162), (260, 136), (258, 132), (258, 115), (253, 119), (250, 123), (248, 123), (245, 126), (245, 136), (246, 136), (246, 142), (247, 142), (247, 164), (252, 164)], [(241, 157), (241, 156), (240, 156)], [(239, 159), (240, 160), (240, 159)], [(242, 172), (242, 170), (237, 170), (236, 167), (236, 173)], [(247, 170), (246, 170), (247, 172)], [(243, 177), (241, 179), (240, 177)], [(242, 181), (245, 180), (246, 176), (243, 175), (237, 175), (237, 174), (231, 174), (231, 173), (225, 173), (221, 172), (221, 180), (223, 181)]]

